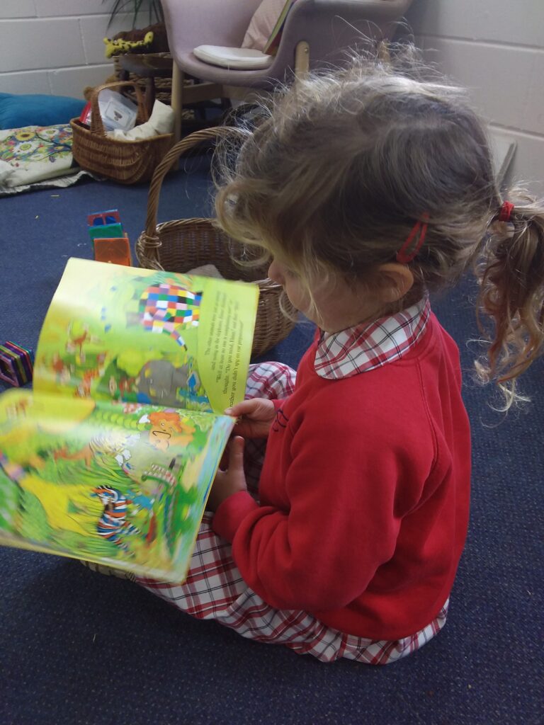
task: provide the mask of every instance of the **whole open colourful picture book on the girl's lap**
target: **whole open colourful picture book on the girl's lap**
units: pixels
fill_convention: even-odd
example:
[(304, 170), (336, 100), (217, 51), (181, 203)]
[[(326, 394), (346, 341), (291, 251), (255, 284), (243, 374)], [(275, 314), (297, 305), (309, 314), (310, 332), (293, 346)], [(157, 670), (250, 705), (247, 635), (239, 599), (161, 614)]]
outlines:
[(0, 544), (184, 579), (244, 397), (254, 285), (70, 259), (0, 396)]

